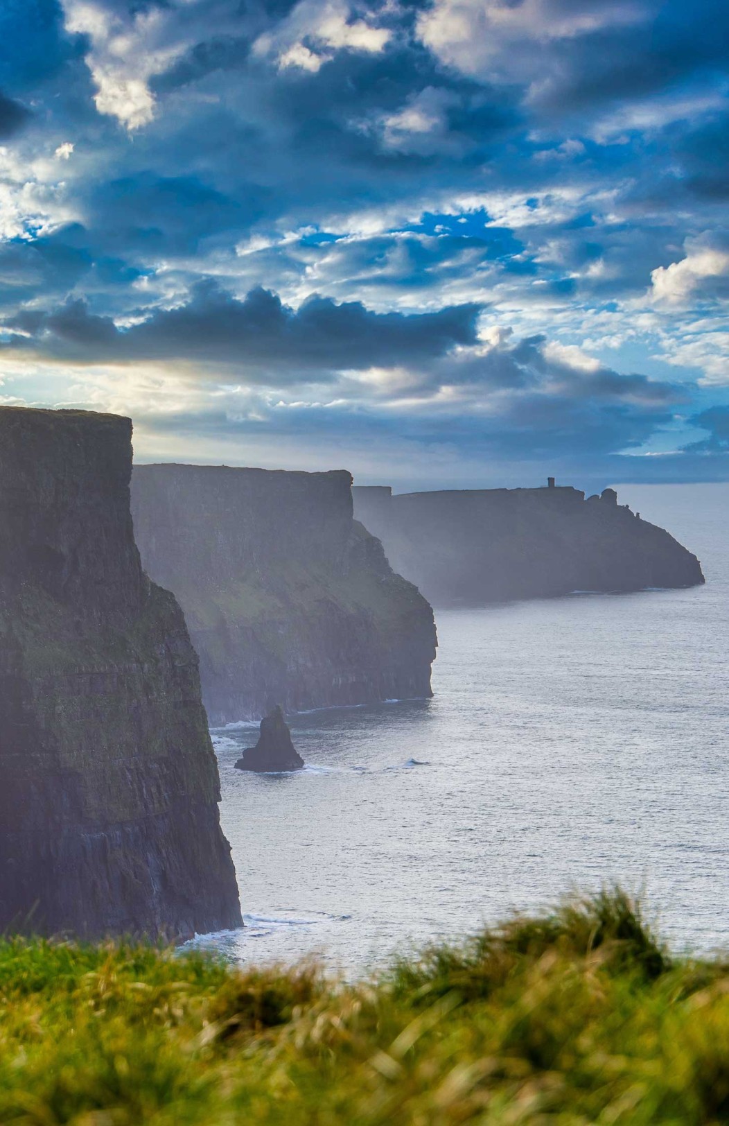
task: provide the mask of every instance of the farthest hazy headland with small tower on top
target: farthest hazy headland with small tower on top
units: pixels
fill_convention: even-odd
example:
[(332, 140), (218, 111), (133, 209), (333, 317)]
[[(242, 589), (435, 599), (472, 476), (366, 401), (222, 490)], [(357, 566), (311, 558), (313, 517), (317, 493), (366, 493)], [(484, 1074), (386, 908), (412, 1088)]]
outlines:
[(435, 605), (704, 581), (695, 555), (611, 489), (587, 500), (565, 488), (352, 493), (393, 566)]

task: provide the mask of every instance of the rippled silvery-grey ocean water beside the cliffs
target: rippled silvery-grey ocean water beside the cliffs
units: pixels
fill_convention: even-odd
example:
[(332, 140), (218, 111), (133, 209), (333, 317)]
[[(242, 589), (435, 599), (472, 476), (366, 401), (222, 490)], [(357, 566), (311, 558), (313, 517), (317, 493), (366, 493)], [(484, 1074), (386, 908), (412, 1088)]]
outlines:
[(214, 732), (242, 960), (359, 972), (570, 890), (641, 891), (676, 949), (729, 949), (729, 485), (621, 486), (706, 586), (436, 615), (432, 700), (294, 716), (298, 774)]

